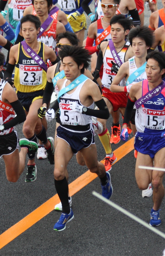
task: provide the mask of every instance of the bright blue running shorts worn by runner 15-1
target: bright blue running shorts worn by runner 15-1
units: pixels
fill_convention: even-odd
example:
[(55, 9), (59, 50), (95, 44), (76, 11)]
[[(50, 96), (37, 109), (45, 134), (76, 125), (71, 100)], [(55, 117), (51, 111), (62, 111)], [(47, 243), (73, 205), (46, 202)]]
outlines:
[(161, 137), (161, 133), (152, 135), (136, 132), (134, 147), (138, 152), (154, 158), (155, 154), (165, 147), (165, 139)]

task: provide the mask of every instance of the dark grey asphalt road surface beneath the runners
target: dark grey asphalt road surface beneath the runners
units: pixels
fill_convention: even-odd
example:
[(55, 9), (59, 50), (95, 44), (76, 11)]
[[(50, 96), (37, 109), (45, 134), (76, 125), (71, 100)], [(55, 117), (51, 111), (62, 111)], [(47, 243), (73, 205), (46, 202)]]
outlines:
[[(161, 1), (158, 1), (161, 8)], [(145, 11), (145, 23), (149, 12)], [(88, 26), (89, 19), (87, 18)], [(107, 122), (111, 130), (112, 118)], [(120, 119), (122, 124), (122, 119)], [(22, 125), (16, 130), (23, 137)], [(48, 123), (48, 136), (54, 136), (55, 121)], [(130, 136), (131, 138), (132, 136)], [(105, 152), (98, 136), (95, 136), (98, 159)], [(124, 142), (112, 145), (115, 150)], [(152, 198), (142, 198), (135, 180), (134, 152), (119, 160), (111, 170), (113, 185), (112, 201), (149, 223)], [(34, 211), (56, 194), (53, 165), (47, 159), (37, 160), (37, 179), (25, 183), (26, 169), (17, 183), (9, 183), (5, 165), (0, 159), (0, 234)], [(69, 183), (78, 178), (87, 168), (77, 164), (75, 156), (68, 165)], [(164, 181), (163, 181), (164, 182)], [(165, 184), (164, 184), (165, 185)], [(165, 248), (163, 238), (124, 216), (92, 195), (101, 193), (98, 178), (72, 196), (74, 219), (67, 223), (62, 232), (53, 230), (61, 212), (52, 211), (35, 225), (20, 234), (0, 250), (0, 256), (155, 256), (162, 255)], [(165, 204), (161, 205), (162, 224), (157, 229), (164, 232)]]

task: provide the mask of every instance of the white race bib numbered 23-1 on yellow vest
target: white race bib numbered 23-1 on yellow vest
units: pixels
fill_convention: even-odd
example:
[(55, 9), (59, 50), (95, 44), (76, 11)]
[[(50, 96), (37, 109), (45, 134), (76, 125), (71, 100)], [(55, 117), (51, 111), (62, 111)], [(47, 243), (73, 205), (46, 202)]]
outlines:
[(42, 84), (42, 68), (40, 66), (28, 66), (19, 64), (19, 80), (23, 85)]

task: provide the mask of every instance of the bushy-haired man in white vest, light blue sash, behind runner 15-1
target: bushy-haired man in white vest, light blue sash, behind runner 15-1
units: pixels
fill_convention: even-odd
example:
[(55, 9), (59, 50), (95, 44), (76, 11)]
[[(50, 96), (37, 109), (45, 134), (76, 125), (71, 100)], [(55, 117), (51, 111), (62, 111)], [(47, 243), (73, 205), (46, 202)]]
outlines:
[[(131, 86), (134, 83), (139, 81), (143, 81), (147, 78), (145, 72), (145, 63), (147, 50), (152, 46), (154, 37), (150, 28), (144, 27), (136, 27), (130, 30), (128, 35), (129, 42), (133, 48), (134, 57), (130, 58), (127, 62), (123, 63), (120, 67), (116, 77), (114, 78), (110, 90), (112, 92), (129, 93)], [(132, 76), (132, 77), (130, 77)], [(120, 81), (125, 79), (127, 81), (125, 87), (118, 86)], [(135, 127), (135, 110), (133, 110), (132, 115), (130, 115), (131, 129), (133, 134), (136, 133)], [(128, 122), (129, 123), (129, 122)], [(128, 130), (127, 127), (125, 130), (122, 128), (122, 133), (120, 138), (123, 140), (123, 132), (127, 133), (128, 139)], [(135, 150), (135, 158), (137, 157), (137, 151)], [(142, 197), (149, 197), (152, 195), (152, 185), (149, 184), (148, 188), (142, 191)]]

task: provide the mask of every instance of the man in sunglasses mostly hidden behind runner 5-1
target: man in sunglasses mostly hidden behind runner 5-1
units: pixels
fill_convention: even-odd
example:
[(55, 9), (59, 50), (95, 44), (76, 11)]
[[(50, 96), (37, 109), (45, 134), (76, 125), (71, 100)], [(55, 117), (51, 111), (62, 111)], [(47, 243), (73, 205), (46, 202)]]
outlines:
[[(77, 38), (76, 34), (71, 33), (69, 31), (61, 33), (57, 37), (57, 47), (58, 47), (58, 51), (59, 52), (62, 50), (63, 45), (78, 46), (78, 43), (79, 43), (79, 39)], [(54, 86), (53, 86), (52, 80), (53, 80), (54, 76), (57, 76), (62, 70), (63, 70), (63, 65), (61, 64), (60, 61), (57, 64), (55, 64), (54, 66), (52, 66), (52, 67), (50, 67), (48, 69), (48, 72), (47, 72), (47, 85), (46, 85), (46, 88), (45, 88), (45, 91), (44, 91), (44, 94), (43, 94), (43, 101), (42, 101), (42, 106), (45, 108), (45, 111), (47, 109), (47, 106), (49, 105), (50, 98), (51, 98), (51, 95), (52, 95), (52, 91), (54, 90)], [(92, 74), (90, 73), (90, 71), (88, 69), (87, 70), (85, 69), (84, 74), (88, 78), (93, 80), (95, 83), (97, 83), (96, 80), (93, 79)], [(66, 77), (61, 77), (61, 78), (66, 78)], [(56, 90), (57, 89), (58, 88), (56, 86)], [(43, 108), (38, 110), (39, 117), (41, 117), (40, 114), (42, 114), (42, 117), (44, 116), (42, 110), (43, 110)], [(53, 118), (55, 117), (55, 112), (56, 111), (57, 111), (57, 113), (56, 113), (56, 132), (55, 132), (54, 148), (56, 148), (56, 144), (57, 144), (57, 140), (56, 140), (57, 128), (60, 125), (59, 103), (58, 103), (57, 100), (55, 101), (55, 103), (53, 104), (51, 109), (49, 109), (45, 113), (47, 121), (53, 120)], [(97, 127), (94, 125), (94, 128), (95, 128), (94, 129), (95, 132), (97, 132), (96, 128), (97, 128), (97, 130), (99, 129), (99, 131), (98, 131), (99, 133), (102, 132), (102, 125), (100, 123), (97, 122)], [(83, 157), (82, 157), (80, 152), (78, 152), (78, 154), (76, 154), (76, 159), (77, 159), (77, 162), (80, 165), (85, 165), (84, 159), (83, 159)], [(66, 172), (65, 172), (65, 176), (66, 176), (67, 181), (68, 181), (69, 176), (68, 176), (68, 170), (67, 169), (66, 169)], [(69, 197), (69, 204), (70, 204), (70, 206), (72, 204), (71, 197)], [(57, 204), (54, 209), (62, 211), (61, 202), (59, 204)]]

